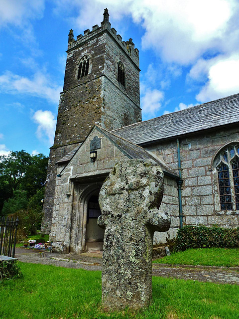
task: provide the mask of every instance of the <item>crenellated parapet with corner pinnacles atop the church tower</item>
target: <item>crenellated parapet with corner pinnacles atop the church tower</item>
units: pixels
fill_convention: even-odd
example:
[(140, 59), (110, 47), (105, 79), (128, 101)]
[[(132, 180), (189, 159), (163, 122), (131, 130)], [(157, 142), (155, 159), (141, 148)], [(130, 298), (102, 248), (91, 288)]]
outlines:
[(117, 30), (111, 27), (111, 23), (109, 22), (109, 12), (108, 9), (105, 9), (104, 12), (104, 20), (101, 22), (101, 26), (98, 24), (92, 27), (92, 30), (87, 29), (83, 34), (79, 34), (77, 38), (74, 38), (73, 30), (70, 30), (68, 37), (68, 50), (67, 53), (71, 50), (75, 50), (77, 47), (82, 46), (85, 42), (90, 41), (95, 37), (99, 37), (101, 33), (107, 32), (121, 47), (121, 49), (133, 60), (133, 62), (139, 66), (139, 52), (137, 48), (134, 48), (134, 43), (131, 38), (128, 41), (122, 41), (122, 37), (120, 34), (117, 34)]

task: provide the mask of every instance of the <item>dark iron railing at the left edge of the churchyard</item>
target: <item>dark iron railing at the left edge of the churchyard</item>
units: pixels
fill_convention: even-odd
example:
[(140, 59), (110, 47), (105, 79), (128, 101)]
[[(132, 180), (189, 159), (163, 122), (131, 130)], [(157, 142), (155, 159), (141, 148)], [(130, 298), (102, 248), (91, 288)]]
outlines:
[(18, 218), (16, 220), (0, 219), (0, 255), (15, 257), (16, 230)]

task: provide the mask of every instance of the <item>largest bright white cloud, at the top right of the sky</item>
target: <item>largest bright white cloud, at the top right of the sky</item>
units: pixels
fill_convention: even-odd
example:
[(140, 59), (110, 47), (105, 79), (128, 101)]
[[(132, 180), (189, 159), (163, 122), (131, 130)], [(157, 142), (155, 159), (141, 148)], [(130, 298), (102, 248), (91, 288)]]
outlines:
[[(227, 23), (237, 11), (231, 0), (150, 1), (147, 8), (141, 15), (143, 48), (153, 47), (165, 61), (181, 65), (212, 48), (226, 49)], [(235, 45), (238, 36), (233, 38)]]

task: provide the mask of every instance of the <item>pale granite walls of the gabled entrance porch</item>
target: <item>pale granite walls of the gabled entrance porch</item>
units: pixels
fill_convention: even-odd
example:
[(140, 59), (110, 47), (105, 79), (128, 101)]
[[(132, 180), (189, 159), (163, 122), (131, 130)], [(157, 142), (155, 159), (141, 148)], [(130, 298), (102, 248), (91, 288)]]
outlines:
[[(95, 136), (101, 138), (97, 160), (90, 160), (90, 142)], [(106, 136), (95, 128), (80, 147), (77, 154), (56, 178), (56, 191), (50, 240), (59, 252), (80, 253), (86, 249), (87, 200), (99, 193), (101, 185), (114, 165), (126, 156)], [(98, 194), (97, 193), (97, 194)], [(156, 233), (155, 243), (164, 243), (176, 234), (178, 222), (178, 192), (176, 181), (164, 180), (164, 196), (160, 209), (168, 213), (172, 228), (167, 233)]]

